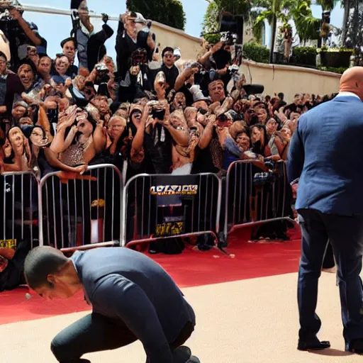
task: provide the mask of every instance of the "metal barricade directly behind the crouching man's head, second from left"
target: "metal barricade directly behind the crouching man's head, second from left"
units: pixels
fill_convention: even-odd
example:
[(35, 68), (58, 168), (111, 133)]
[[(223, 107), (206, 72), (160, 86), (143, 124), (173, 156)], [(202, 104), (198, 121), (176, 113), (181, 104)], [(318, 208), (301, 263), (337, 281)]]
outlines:
[[(121, 172), (112, 164), (89, 166), (63, 179), (53, 172), (40, 180), (40, 245), (63, 252), (117, 245), (121, 239)], [(112, 241), (112, 242), (106, 242)]]

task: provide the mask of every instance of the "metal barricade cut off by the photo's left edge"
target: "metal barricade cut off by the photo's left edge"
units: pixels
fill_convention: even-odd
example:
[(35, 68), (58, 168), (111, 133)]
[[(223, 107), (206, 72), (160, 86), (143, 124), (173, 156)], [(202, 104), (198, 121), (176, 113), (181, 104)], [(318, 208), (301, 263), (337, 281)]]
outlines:
[[(10, 246), (26, 241), (38, 245), (38, 180), (33, 172), (1, 174), (3, 185), (0, 239)], [(6, 242), (5, 242), (6, 241)]]

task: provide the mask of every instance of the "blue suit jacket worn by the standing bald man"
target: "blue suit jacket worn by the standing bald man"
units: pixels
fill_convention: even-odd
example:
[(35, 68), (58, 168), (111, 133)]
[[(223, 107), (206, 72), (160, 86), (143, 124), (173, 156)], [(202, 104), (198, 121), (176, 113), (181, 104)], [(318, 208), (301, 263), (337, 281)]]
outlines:
[(289, 181), (298, 177), (296, 209), (363, 215), (363, 103), (336, 97), (303, 114), (288, 154)]

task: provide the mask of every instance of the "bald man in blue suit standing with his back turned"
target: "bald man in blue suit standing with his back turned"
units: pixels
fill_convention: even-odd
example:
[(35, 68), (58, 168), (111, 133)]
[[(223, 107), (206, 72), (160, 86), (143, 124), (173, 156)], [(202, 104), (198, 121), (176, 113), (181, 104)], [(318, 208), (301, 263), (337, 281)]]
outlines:
[(298, 350), (321, 350), (315, 313), (328, 241), (333, 246), (345, 350), (363, 353), (363, 67), (347, 69), (340, 93), (303, 114), (291, 139), (289, 180), (297, 178), (301, 225)]

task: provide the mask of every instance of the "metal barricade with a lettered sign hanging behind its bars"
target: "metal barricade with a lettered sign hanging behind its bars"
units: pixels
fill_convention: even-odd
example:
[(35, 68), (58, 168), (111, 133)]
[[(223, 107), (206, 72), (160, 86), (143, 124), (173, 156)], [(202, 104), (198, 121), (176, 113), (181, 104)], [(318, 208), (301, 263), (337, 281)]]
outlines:
[(216, 174), (140, 174), (125, 185), (121, 245), (219, 232), (221, 181)]

